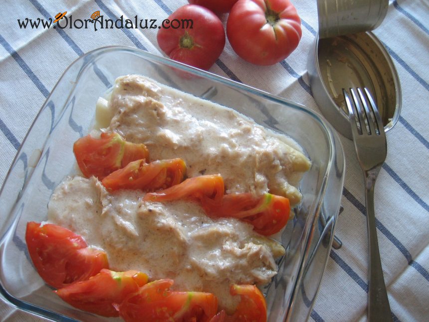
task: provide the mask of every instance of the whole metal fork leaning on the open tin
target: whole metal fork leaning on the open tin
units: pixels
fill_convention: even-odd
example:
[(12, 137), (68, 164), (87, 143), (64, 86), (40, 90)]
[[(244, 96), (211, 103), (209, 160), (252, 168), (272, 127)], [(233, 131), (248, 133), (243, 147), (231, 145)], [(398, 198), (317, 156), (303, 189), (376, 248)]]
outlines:
[[(365, 176), (365, 205), (369, 244), (368, 321), (392, 321), (389, 299), (383, 277), (374, 213), (374, 186), (386, 160), (387, 143), (383, 122), (369, 91), (343, 89), (355, 142), (356, 155)], [(368, 104), (369, 103), (369, 104)], [(363, 106), (363, 108), (362, 108)]]

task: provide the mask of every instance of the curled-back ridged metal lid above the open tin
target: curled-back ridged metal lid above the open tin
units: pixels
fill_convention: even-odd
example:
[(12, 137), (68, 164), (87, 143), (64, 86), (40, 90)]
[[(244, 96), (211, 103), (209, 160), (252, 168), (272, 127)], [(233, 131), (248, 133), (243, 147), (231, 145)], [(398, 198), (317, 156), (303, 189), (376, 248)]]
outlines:
[(319, 37), (370, 31), (386, 16), (389, 0), (317, 0)]

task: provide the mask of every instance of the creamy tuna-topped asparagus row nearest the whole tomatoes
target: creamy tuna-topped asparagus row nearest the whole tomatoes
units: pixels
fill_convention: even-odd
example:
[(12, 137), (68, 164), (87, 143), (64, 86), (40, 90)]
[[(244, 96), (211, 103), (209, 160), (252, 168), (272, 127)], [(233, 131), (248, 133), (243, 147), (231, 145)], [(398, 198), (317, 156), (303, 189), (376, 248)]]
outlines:
[(108, 103), (114, 114), (109, 130), (144, 143), (152, 160), (183, 158), (188, 176), (220, 173), (227, 193), (268, 190), (295, 205), (294, 185), (309, 160), (252, 120), (137, 75), (119, 77)]

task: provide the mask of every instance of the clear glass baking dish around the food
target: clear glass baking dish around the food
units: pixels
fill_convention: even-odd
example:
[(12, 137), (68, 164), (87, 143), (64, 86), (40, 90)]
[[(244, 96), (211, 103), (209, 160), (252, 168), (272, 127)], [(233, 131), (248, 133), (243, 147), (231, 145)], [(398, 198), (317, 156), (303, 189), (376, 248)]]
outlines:
[(141, 74), (231, 107), (296, 140), (312, 167), (300, 183), (302, 202), (281, 235), (286, 254), (264, 288), (268, 321), (307, 320), (329, 256), (344, 180), (337, 135), (311, 110), (283, 98), (145, 51), (111, 46), (73, 62), (46, 99), (0, 191), (0, 293), (12, 305), (61, 321), (106, 321), (79, 311), (43, 283), (25, 245), (28, 221), (46, 220), (53, 189), (76, 173), (72, 145), (94, 124), (95, 104), (116, 77)]

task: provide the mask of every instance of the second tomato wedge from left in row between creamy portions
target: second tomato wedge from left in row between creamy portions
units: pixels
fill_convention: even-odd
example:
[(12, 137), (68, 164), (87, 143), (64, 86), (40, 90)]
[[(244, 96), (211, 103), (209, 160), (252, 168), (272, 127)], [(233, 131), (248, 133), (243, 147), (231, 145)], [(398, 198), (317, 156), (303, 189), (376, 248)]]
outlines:
[(186, 173), (182, 159), (158, 160), (145, 163), (145, 160), (130, 162), (125, 168), (112, 172), (101, 183), (109, 191), (118, 189), (141, 189), (154, 191), (167, 189), (182, 182)]

